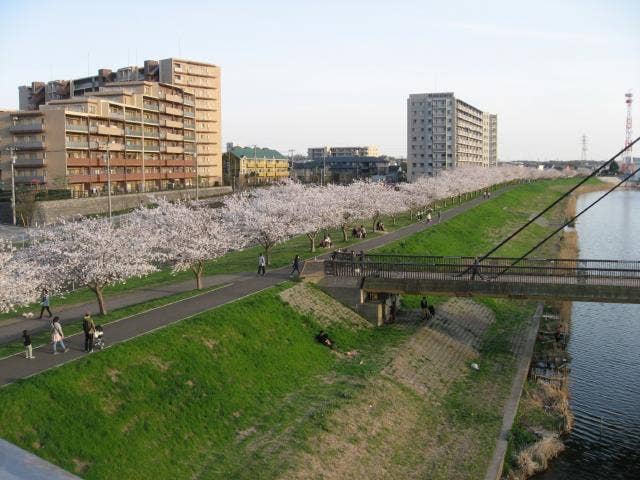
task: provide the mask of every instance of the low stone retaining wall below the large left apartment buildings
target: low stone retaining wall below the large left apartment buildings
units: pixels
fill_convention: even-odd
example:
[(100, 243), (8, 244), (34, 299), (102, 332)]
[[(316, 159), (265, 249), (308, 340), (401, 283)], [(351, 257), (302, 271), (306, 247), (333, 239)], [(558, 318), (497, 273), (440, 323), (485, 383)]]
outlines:
[[(206, 187), (200, 189), (200, 198), (215, 197), (231, 193), (231, 187)], [(113, 195), (111, 209), (114, 212), (136, 208), (152, 202), (153, 197), (167, 200), (194, 199), (195, 190), (168, 190), (153, 193), (130, 193), (127, 195)], [(35, 222), (38, 225), (53, 223), (60, 218), (72, 218), (77, 215), (95, 215), (107, 213), (109, 210), (108, 197), (77, 198), (70, 200), (52, 200), (38, 202)]]

